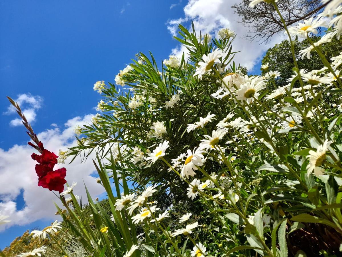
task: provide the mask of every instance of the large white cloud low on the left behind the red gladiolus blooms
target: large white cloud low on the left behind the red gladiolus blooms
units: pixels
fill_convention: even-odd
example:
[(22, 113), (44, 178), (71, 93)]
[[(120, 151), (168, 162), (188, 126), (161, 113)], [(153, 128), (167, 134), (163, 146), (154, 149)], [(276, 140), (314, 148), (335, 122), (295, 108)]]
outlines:
[[(58, 127), (47, 129), (37, 136), (44, 144), (44, 148), (58, 154), (59, 149), (66, 149), (75, 145), (74, 128), (76, 125), (90, 123), (92, 115), (75, 117), (68, 120), (64, 129)], [(24, 127), (23, 127), (23, 133)], [(31, 159), (35, 150), (28, 145), (14, 145), (8, 150), (0, 148), (0, 211), (3, 215), (9, 215), (11, 222), (0, 229), (11, 225), (24, 225), (39, 219), (56, 219), (56, 208), (53, 201), (60, 206), (60, 200), (48, 189), (37, 186), (38, 178), (35, 172), (36, 162)], [(84, 163), (76, 158), (71, 164), (56, 164), (56, 168), (67, 169), (66, 180), (69, 184), (77, 182), (74, 193), (82, 196), (82, 202), (87, 202), (83, 185), (87, 185), (91, 195), (96, 197), (104, 192), (103, 187), (96, 183), (91, 176), (95, 169), (92, 157)], [(23, 192), (25, 206), (19, 210), (16, 206), (17, 196)], [(55, 192), (56, 193), (56, 192)]]

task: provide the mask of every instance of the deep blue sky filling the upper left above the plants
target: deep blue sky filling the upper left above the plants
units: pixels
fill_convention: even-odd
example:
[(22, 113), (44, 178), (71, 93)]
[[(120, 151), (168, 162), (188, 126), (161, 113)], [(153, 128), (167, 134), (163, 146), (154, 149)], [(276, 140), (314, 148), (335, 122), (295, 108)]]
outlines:
[[(16, 116), (15, 113), (8, 112), (6, 95), (16, 99), (18, 95), (26, 94), (27, 99), (32, 96), (32, 99), (40, 99), (39, 103), (31, 105), (27, 101), (23, 102), (24, 108), (31, 109), (36, 116), (32, 121), (34, 130), (42, 133), (41, 137), (49, 140), (50, 145), (55, 142), (52, 138), (54, 135), (63, 141), (63, 136), (72, 130), (75, 122), (83, 122), (89, 118), (88, 114), (96, 113), (94, 107), (100, 100), (100, 95), (92, 88), (97, 80), (114, 83), (115, 75), (125, 64), (130, 63), (130, 59), (138, 51), (152, 51), (160, 62), (168, 58), (172, 51), (179, 54), (181, 48), (177, 48), (179, 44), (170, 33), (173, 24), (177, 23), (175, 20), (182, 19), (183, 24), (188, 25), (189, 20), (193, 19), (201, 29), (209, 28), (213, 33), (220, 26), (238, 26), (234, 19), (228, 21), (222, 14), (222, 17), (215, 17), (218, 21), (214, 20), (214, 24), (208, 15), (201, 17), (201, 13), (208, 10), (212, 12), (210, 15), (215, 15), (215, 10), (206, 7), (209, 2), (73, 0), (62, 3), (52, 0), (0, 0), (0, 154), (6, 156), (3, 159), (0, 156), (0, 181), (10, 180), (12, 176), (8, 171), (5, 172), (6, 167), (14, 167), (10, 171), (12, 174), (19, 174), (26, 169), (24, 163), (20, 166), (20, 161), (18, 163), (11, 159), (13, 155), (20, 151), (26, 158), (27, 153), (32, 152), (26, 147), (28, 136), (24, 127), (10, 125)], [(232, 13), (230, 6), (233, 2), (213, 2), (218, 2)], [(217, 8), (216, 12), (225, 10), (220, 6)], [(237, 40), (240, 47), (251, 47), (243, 39)], [(254, 43), (253, 46), (257, 44)], [(253, 51), (253, 54), (243, 52), (239, 58), (247, 62), (252, 73), (258, 73), (259, 60), (265, 49), (267, 47), (260, 48)], [(63, 141), (64, 145), (70, 140), (72, 135)], [(30, 164), (25, 172), (34, 173), (34, 166), (30, 168), (30, 160), (27, 163)], [(76, 166), (74, 168), (80, 170)], [(24, 180), (28, 173), (20, 175), (19, 180)], [(93, 176), (91, 170), (87, 176)], [(43, 213), (35, 220), (32, 215), (36, 211), (34, 209), (23, 212), (31, 213), (32, 216), (20, 216), (23, 215), (20, 211), (29, 205), (32, 196), (28, 187), (12, 186), (12, 191), (6, 191), (7, 185), (2, 186), (5, 189), (0, 191), (0, 210), (1, 204), (14, 204), (12, 207), (15, 217), (11, 218), (16, 220), (12, 227), (0, 232), (0, 248), (9, 245), (27, 229), (37, 226), (43, 228), (53, 218), (58, 218)], [(98, 190), (94, 189), (94, 192), (100, 193)], [(47, 199), (50, 199), (49, 196), (44, 195)], [(40, 198), (41, 195), (37, 197)], [(27, 220), (21, 222), (18, 217)]]

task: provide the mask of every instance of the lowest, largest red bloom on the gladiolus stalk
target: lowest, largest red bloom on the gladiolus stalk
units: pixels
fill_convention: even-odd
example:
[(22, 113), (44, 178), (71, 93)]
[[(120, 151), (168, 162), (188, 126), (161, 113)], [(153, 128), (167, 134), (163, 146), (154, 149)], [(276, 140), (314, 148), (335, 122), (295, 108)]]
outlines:
[(38, 186), (48, 188), (50, 191), (55, 190), (60, 193), (64, 190), (66, 180), (66, 169), (61, 168), (55, 171), (49, 171), (45, 176), (39, 178)]

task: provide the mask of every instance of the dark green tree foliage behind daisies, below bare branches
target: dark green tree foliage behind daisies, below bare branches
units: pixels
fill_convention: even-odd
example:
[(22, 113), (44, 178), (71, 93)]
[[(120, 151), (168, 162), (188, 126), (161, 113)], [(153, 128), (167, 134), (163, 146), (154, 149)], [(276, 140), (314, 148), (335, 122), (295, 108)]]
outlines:
[[(312, 37), (314, 42), (317, 42), (320, 37)], [(307, 69), (309, 71), (319, 70), (323, 68), (323, 64), (318, 54), (314, 51), (311, 52), (311, 58), (307, 59), (306, 56), (302, 59), (300, 55), (300, 50), (308, 48), (310, 42), (307, 39), (303, 41), (295, 42), (295, 55), (297, 57), (297, 62), (301, 69)], [(325, 54), (327, 60), (331, 57), (339, 55), (342, 51), (342, 39), (338, 40), (336, 37), (330, 43), (326, 43), (321, 46), (322, 52)], [(263, 57), (262, 64), (269, 63), (269, 70), (278, 70), (281, 77), (277, 78), (276, 83), (279, 87), (288, 84), (287, 79), (290, 78), (294, 73), (292, 68), (294, 67), (290, 42), (288, 40), (282, 41), (280, 44), (276, 44), (274, 47), (269, 48)], [(262, 71), (261, 75), (267, 75), (266, 71)]]

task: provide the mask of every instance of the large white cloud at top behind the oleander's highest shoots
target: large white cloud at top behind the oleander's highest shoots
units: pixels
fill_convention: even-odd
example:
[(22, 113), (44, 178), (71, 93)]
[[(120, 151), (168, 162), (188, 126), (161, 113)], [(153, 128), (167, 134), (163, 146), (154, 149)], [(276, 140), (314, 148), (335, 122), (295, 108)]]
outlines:
[[(185, 16), (170, 20), (168, 29), (172, 35), (177, 35), (178, 24), (190, 20), (194, 22), (197, 34), (201, 31), (202, 34), (217, 35), (221, 28), (232, 29), (237, 33), (233, 42), (233, 51), (240, 51), (235, 55), (235, 62), (240, 62), (241, 65), (252, 70), (254, 65), (262, 58), (264, 52), (284, 38), (276, 35), (268, 46), (259, 45), (258, 41), (251, 42), (244, 39), (243, 37), (248, 33), (248, 28), (237, 22), (239, 16), (231, 8), (233, 4), (239, 2), (241, 0), (189, 0), (183, 9)], [(184, 46), (177, 46), (172, 49), (172, 53), (181, 57), (184, 50), (186, 50)]]

